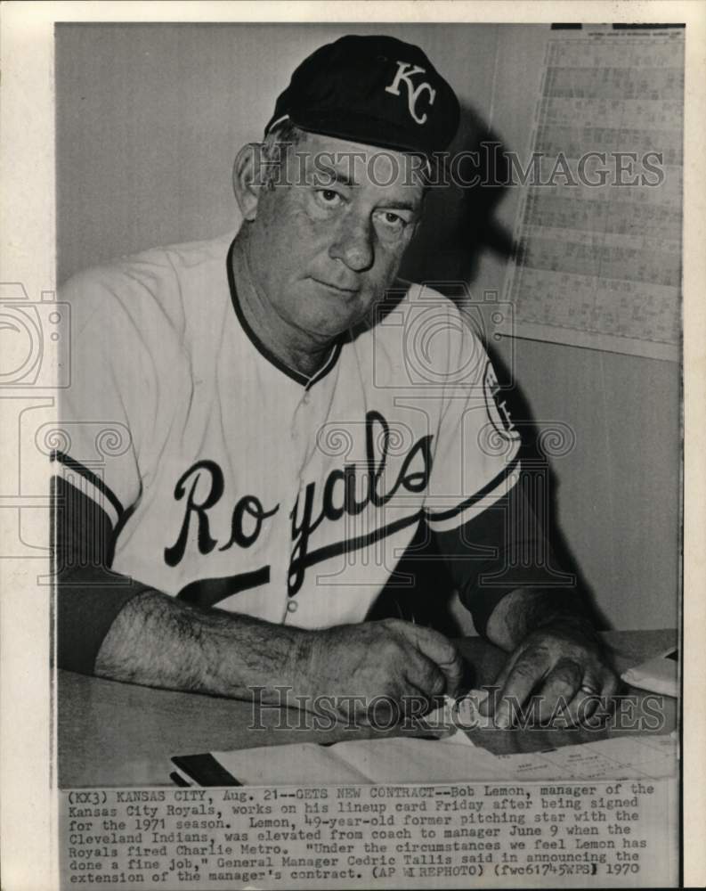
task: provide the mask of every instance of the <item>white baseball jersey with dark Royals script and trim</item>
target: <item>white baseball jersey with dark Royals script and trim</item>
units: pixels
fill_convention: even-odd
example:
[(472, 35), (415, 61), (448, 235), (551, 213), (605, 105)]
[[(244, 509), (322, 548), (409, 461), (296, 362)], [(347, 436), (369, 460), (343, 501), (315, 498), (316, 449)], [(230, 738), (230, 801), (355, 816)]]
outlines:
[(101, 506), (112, 569), (309, 628), (366, 616), (424, 519), (505, 495), (519, 436), (481, 341), (402, 284), (311, 379), (250, 330), (233, 235), (79, 274), (56, 467)]

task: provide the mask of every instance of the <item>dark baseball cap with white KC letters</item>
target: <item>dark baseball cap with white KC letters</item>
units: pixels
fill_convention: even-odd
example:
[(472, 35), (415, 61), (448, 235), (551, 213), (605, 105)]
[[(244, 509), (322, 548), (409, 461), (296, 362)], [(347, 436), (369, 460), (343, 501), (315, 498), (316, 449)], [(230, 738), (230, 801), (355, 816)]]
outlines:
[(458, 129), (458, 99), (418, 46), (347, 35), (296, 68), (267, 135), (284, 119), (311, 133), (430, 158)]

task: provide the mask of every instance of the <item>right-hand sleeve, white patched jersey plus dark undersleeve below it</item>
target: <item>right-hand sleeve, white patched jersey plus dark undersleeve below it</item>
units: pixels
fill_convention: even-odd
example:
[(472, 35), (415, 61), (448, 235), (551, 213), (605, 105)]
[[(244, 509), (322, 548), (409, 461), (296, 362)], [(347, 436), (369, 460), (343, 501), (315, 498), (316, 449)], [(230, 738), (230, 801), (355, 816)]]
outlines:
[(520, 465), (521, 437), (491, 360), (460, 313), (450, 312), (447, 328), (425, 513), (460, 599), (483, 635), (499, 601), (517, 588), (541, 589), (563, 609), (590, 615), (535, 511)]

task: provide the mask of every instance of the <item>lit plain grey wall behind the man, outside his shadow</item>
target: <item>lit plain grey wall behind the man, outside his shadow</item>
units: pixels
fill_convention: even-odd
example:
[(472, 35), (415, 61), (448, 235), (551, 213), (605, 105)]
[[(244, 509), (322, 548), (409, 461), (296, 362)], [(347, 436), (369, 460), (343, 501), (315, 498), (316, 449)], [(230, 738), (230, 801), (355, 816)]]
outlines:
[[(288, 72), (348, 30), (59, 26), (59, 280), (118, 254), (231, 228), (236, 151), (260, 137)], [(422, 45), (456, 88), (467, 128), (487, 127), (507, 147), (525, 149), (548, 29), (354, 30)], [(507, 190), (493, 208), (507, 231), (517, 199)], [(463, 245), (453, 256), (443, 250), (457, 216), (458, 207), (435, 210), (436, 249), (424, 258), (434, 273), (461, 256)], [(474, 291), (502, 293), (505, 270), (503, 257), (480, 252), (468, 273)], [(536, 421), (564, 421), (575, 431), (575, 449), (553, 465), (556, 519), (606, 621), (676, 625), (678, 367), (523, 339), (503, 341), (499, 356), (512, 364)]]

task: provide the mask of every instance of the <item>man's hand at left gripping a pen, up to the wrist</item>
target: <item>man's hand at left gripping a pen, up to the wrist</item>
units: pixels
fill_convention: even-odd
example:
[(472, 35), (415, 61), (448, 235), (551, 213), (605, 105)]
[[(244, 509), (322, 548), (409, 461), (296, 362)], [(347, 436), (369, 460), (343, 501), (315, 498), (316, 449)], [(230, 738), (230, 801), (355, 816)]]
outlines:
[(399, 619), (313, 632), (304, 652), (304, 686), (312, 699), (336, 697), (339, 714), (359, 718), (371, 716), (376, 699), (402, 714), (420, 713), (419, 703), (454, 696), (463, 673), (458, 651), (442, 634)]

